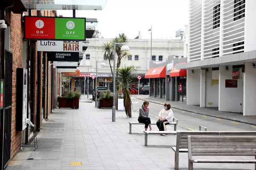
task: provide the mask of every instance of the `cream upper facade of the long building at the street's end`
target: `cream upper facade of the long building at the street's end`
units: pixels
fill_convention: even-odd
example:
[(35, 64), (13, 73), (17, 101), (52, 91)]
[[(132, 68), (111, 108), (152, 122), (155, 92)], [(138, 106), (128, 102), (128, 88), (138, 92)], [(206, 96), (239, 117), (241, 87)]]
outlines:
[[(111, 73), (108, 60), (104, 60), (101, 46), (104, 42), (110, 42), (111, 39), (92, 38), (87, 39), (90, 43), (84, 54), (90, 54), (90, 63), (88, 66), (96, 70), (96, 60), (104, 61), (106, 66), (98, 65), (99, 73)], [(152, 40), (152, 55), (156, 56), (155, 62), (165, 62), (169, 55), (183, 56), (183, 41), (182, 40)], [(130, 48), (129, 53), (132, 55), (132, 60), (122, 59), (121, 66), (134, 66), (136, 74), (145, 74), (149, 69), (149, 62), (151, 61), (150, 47), (151, 40), (131, 39), (127, 44)], [(139, 60), (134, 60), (134, 56), (138, 55)], [(163, 61), (159, 61), (159, 56), (163, 56)], [(84, 55), (85, 60), (85, 55)], [(113, 61), (111, 61), (113, 67)], [(78, 68), (80, 72), (87, 71), (85, 67)]]

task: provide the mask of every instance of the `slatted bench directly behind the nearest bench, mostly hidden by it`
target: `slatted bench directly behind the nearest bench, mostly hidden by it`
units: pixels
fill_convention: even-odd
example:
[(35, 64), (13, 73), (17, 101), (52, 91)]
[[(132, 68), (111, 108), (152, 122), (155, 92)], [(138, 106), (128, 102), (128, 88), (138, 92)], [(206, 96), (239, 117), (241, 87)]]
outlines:
[(256, 136), (256, 131), (177, 131), (175, 152), (175, 170), (179, 169), (179, 153), (188, 152), (188, 136)]

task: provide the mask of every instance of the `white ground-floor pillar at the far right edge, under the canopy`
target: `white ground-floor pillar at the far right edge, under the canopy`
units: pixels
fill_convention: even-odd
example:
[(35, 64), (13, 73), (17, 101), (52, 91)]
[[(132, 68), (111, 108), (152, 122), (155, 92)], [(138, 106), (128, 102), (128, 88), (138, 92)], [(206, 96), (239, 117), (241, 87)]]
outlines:
[(245, 62), (244, 65), (244, 116), (256, 116), (256, 69), (252, 62)]

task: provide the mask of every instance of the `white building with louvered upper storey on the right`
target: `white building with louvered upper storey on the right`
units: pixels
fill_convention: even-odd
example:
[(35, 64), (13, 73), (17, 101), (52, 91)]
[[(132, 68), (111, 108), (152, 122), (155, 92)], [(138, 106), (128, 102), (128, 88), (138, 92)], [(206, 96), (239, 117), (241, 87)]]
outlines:
[(255, 0), (189, 0), (187, 105), (255, 116)]

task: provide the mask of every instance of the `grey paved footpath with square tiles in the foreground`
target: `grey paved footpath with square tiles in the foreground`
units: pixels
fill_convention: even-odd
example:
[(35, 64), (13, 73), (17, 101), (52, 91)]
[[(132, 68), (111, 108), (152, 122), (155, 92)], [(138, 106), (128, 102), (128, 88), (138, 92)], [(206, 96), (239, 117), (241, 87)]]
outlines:
[[(94, 108), (94, 103), (80, 102), (79, 109), (56, 109), (38, 134), (38, 149), (22, 149), (6, 170), (174, 170), (171, 146), (176, 136), (149, 136), (145, 147), (143, 126), (134, 125), (134, 133), (128, 133), (128, 122), (137, 121), (138, 114), (133, 114), (128, 119), (117, 111), (116, 122), (111, 122), (111, 110)], [(187, 153), (180, 153), (180, 169), (188, 169)], [(195, 170), (227, 169), (253, 170), (254, 165), (195, 164)]]

